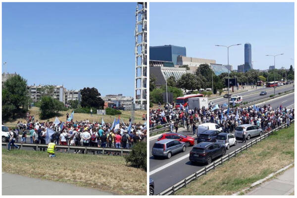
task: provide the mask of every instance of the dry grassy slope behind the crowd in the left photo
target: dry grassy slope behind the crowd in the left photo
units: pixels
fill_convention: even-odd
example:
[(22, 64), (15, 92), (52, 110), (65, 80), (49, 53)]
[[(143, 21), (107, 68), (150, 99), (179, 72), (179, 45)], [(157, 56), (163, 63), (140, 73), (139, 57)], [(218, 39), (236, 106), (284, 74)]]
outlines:
[[(59, 116), (59, 120), (61, 122), (64, 122), (66, 121), (66, 113), (68, 112), (69, 113), (69, 116), (71, 115), (73, 109), (69, 109), (68, 111), (60, 111), (61, 113), (61, 116)], [(54, 121), (55, 117), (53, 118), (50, 118), (50, 119), (46, 119), (46, 120), (42, 120), (39, 118), (39, 114), (40, 114), (40, 110), (39, 110), (39, 107), (32, 107), (30, 109), (30, 115), (34, 115), (35, 116), (35, 120), (38, 120), (39, 122), (44, 122), (44, 121)], [(93, 112), (95, 112), (95, 110), (93, 110)], [(131, 111), (121, 111), (122, 114), (120, 115), (120, 118), (125, 122), (125, 123), (129, 123), (129, 118), (131, 117)], [(147, 111), (146, 110), (137, 110), (137, 111), (134, 111), (134, 117), (135, 117), (135, 122), (136, 123), (144, 123), (145, 121), (142, 120), (142, 116), (143, 114), (146, 114)], [(89, 120), (91, 122), (93, 121), (99, 121), (101, 122), (102, 121), (102, 117), (103, 117), (103, 120), (104, 122), (106, 123), (112, 123), (113, 122), (113, 119), (114, 118), (118, 118), (118, 115), (97, 115), (97, 114), (93, 114), (93, 116), (91, 116), (90, 113), (74, 113), (74, 121), (77, 120), (77, 121), (81, 121), (81, 120)], [(22, 119), (17, 119), (17, 120), (14, 120), (12, 122), (6, 122), (5, 125), (8, 126), (8, 127), (15, 127), (16, 126), (16, 123), (18, 121), (22, 121), (22, 122), (25, 122), (26, 119), (25, 118), (22, 118)]]

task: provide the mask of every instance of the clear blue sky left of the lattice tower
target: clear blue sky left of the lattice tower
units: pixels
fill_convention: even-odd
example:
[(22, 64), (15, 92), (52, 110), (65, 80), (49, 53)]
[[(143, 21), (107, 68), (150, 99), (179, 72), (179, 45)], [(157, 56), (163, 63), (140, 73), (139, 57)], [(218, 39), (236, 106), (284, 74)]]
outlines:
[(135, 9), (135, 2), (2, 3), (2, 63), (29, 85), (134, 97)]

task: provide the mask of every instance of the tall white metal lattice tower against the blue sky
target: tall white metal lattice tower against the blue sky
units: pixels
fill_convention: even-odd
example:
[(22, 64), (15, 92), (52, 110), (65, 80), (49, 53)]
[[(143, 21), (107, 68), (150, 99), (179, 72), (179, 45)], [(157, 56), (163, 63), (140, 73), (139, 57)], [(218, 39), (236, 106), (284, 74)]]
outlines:
[[(147, 2), (138, 2), (135, 24), (135, 103), (147, 108)], [(136, 105), (136, 108), (139, 105)], [(138, 107), (139, 108), (139, 107)]]

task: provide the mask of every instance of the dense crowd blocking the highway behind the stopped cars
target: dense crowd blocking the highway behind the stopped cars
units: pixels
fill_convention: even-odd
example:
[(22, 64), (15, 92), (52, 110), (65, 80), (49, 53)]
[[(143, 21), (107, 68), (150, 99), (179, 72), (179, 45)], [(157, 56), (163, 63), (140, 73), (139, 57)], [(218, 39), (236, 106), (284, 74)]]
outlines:
[[(212, 110), (213, 109), (213, 110)], [(214, 105), (202, 107), (200, 109), (189, 109), (181, 106), (175, 108), (174, 105), (167, 103), (163, 108), (149, 110), (149, 127), (168, 124), (170, 131), (177, 133), (181, 124), (189, 130), (192, 127), (195, 133), (198, 124), (211, 122), (222, 127), (223, 132), (233, 132), (235, 128), (242, 124), (252, 124), (260, 127), (263, 132), (280, 126), (281, 124), (290, 125), (290, 121), (294, 119), (294, 108), (286, 107), (272, 108), (270, 104), (266, 106), (245, 106), (245, 107), (218, 107), (214, 109)]]

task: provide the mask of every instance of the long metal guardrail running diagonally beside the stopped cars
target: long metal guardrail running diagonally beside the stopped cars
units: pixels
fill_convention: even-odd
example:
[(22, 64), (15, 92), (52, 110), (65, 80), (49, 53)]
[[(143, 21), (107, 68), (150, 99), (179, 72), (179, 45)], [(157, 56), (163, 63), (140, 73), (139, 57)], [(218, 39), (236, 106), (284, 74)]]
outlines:
[[(290, 121), (290, 123), (293, 123), (294, 119)], [(218, 165), (222, 164), (224, 161), (228, 161), (230, 160), (230, 158), (236, 156), (238, 153), (241, 153), (243, 150), (247, 150), (247, 148), (252, 147), (254, 144), (257, 144), (258, 142), (261, 142), (262, 140), (268, 138), (270, 135), (272, 135), (272, 133), (274, 131), (278, 131), (280, 129), (283, 128), (288, 128), (287, 124), (282, 124), (279, 127), (276, 127), (275, 129), (269, 131), (268, 133), (263, 134), (262, 136), (252, 140), (251, 142), (247, 143), (246, 145), (242, 146), (241, 148), (237, 148), (236, 150), (233, 150), (232, 152), (222, 156), (221, 158), (215, 160), (214, 162), (212, 162), (211, 164), (205, 166), (204, 168), (198, 170), (197, 172), (189, 175), (188, 177), (186, 177), (185, 179), (179, 181), (178, 183), (174, 184), (173, 186), (167, 188), (166, 190), (162, 191), (161, 193), (159, 193), (158, 195), (174, 195), (174, 193), (183, 188), (183, 187), (187, 187), (187, 185), (194, 181), (197, 180), (198, 177), (200, 177), (201, 175), (206, 175), (207, 172), (209, 172), (210, 170), (214, 170), (215, 167), (217, 167)]]

